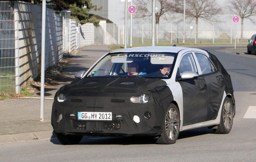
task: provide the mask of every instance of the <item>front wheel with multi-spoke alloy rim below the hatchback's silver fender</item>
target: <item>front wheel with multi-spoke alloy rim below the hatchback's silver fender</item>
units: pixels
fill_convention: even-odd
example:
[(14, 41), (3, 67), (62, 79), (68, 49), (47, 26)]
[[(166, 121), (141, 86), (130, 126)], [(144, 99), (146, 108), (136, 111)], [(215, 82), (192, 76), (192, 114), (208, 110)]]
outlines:
[[(175, 111), (174, 111), (175, 110)], [(168, 123), (168, 119), (167, 118), (167, 115), (169, 115), (169, 113), (172, 111), (172, 113), (176, 114), (176, 115), (173, 115), (173, 119), (169, 118), (170, 120), (172, 120), (173, 122), (170, 122), (170, 124), (167, 124)], [(163, 132), (162, 134), (156, 139), (156, 143), (157, 144), (173, 144), (176, 142), (176, 140), (178, 139), (178, 136), (179, 136), (179, 129), (180, 129), (180, 114), (179, 114), (179, 109), (177, 108), (177, 106), (175, 104), (170, 104), (169, 105), (169, 108), (166, 110), (165, 112), (165, 117), (164, 119), (162, 120), (162, 129), (163, 129)], [(175, 117), (174, 117), (175, 116)], [(166, 126), (169, 126), (168, 128)], [(173, 129), (172, 129), (173, 128)], [(172, 129), (172, 130), (170, 130)], [(169, 134), (167, 133), (167, 131), (169, 132)], [(170, 136), (170, 133), (173, 133), (173, 136), (171, 139), (169, 136)]]

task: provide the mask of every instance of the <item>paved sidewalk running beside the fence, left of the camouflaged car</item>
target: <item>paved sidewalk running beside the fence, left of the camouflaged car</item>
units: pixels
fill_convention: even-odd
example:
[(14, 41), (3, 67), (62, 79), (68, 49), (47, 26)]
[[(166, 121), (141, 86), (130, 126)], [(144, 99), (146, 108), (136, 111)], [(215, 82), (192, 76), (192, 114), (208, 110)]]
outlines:
[(40, 93), (33, 98), (14, 98), (0, 101), (0, 143), (20, 140), (50, 138), (54, 136), (51, 126), (51, 108), (57, 90), (69, 84), (76, 72), (88, 70), (95, 61), (109, 52), (107, 45), (85, 46), (78, 49), (57, 82), (45, 88), (44, 122), (40, 122)]

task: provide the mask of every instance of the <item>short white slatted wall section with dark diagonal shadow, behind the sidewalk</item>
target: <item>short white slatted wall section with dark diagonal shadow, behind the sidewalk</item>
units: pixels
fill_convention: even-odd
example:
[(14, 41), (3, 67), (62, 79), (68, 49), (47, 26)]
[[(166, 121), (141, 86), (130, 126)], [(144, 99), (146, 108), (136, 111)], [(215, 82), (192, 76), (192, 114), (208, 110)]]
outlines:
[(80, 45), (94, 44), (94, 25), (93, 23), (86, 23), (80, 25)]

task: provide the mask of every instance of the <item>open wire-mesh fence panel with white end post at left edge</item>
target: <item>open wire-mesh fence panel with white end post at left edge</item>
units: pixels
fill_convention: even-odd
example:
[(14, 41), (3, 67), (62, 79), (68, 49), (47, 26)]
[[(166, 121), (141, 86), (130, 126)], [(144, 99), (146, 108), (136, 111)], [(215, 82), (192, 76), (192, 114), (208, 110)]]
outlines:
[(17, 5), (0, 1), (0, 94), (15, 93), (18, 87)]

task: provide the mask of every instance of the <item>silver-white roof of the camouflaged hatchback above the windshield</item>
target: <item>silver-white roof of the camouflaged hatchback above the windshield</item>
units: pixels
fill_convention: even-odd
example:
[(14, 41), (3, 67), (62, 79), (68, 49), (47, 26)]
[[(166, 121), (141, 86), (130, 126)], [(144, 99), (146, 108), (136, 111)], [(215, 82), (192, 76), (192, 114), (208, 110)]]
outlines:
[(124, 48), (111, 51), (110, 53), (115, 52), (174, 52), (178, 53), (183, 49), (188, 49), (187, 47), (174, 47), (174, 46), (145, 46), (145, 47), (133, 47), (133, 48)]

